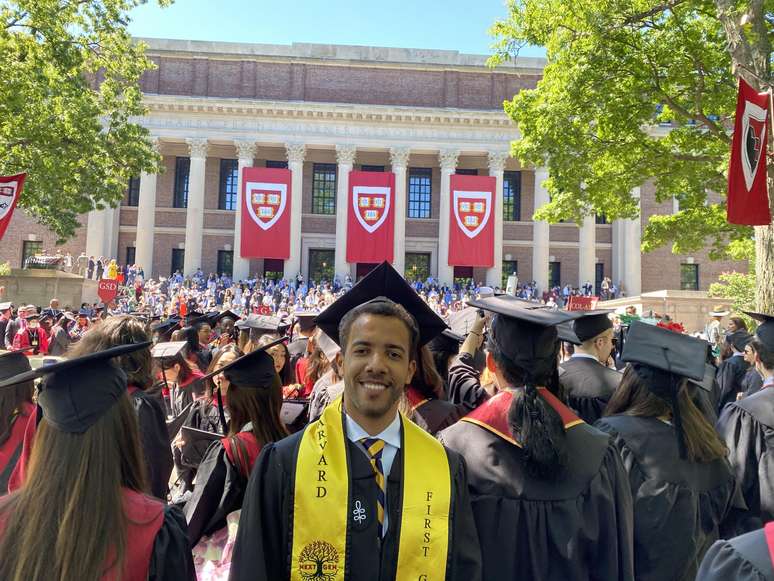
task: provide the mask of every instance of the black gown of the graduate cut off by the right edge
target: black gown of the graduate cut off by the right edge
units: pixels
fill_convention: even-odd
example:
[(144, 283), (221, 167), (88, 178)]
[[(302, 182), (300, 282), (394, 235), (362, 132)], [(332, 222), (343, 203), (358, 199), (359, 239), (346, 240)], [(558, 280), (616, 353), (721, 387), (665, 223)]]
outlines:
[(717, 429), (747, 504), (747, 511), (732, 511), (727, 532), (733, 536), (774, 520), (774, 389), (726, 406)]

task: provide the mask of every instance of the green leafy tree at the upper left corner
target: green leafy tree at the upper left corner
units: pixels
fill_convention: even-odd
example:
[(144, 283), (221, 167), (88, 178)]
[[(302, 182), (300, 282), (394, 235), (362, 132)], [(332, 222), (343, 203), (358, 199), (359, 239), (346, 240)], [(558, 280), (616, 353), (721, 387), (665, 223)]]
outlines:
[(144, 2), (0, 1), (0, 175), (28, 172), (19, 205), (60, 239), (79, 214), (117, 205), (130, 177), (159, 169), (134, 122), (153, 63), (126, 25)]

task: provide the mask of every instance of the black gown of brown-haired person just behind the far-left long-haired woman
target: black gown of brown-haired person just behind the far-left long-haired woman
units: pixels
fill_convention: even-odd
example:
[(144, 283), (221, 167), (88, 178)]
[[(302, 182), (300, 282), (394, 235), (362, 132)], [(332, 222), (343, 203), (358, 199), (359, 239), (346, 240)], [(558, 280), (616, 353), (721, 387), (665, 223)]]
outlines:
[(139, 389), (132, 391), (132, 403), (137, 412), (150, 492), (156, 498), (166, 501), (173, 461), (164, 410), (157, 398)]

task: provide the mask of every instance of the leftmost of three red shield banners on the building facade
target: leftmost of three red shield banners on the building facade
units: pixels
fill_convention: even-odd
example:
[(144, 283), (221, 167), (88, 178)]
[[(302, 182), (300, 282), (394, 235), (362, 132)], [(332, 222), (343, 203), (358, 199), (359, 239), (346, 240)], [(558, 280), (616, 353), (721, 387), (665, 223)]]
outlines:
[(244, 258), (290, 258), (290, 170), (242, 170)]

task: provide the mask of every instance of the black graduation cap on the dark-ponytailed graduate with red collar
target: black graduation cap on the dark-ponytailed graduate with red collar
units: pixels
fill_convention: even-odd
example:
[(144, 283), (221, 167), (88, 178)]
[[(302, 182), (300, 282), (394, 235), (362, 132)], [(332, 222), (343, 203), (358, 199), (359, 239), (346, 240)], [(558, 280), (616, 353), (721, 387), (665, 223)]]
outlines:
[(468, 303), (491, 311), (490, 338), (513, 364), (530, 375), (530, 382), (545, 380), (556, 365), (559, 349), (557, 325), (583, 316), (579, 311), (559, 311), (500, 295)]

